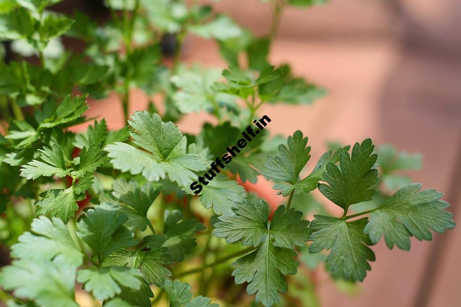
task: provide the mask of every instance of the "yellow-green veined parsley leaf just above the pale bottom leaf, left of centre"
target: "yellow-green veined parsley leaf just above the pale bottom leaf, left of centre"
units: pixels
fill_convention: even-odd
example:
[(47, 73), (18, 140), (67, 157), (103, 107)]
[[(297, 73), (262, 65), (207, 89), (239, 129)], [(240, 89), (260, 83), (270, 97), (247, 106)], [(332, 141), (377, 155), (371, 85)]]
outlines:
[(127, 266), (139, 268), (144, 276), (144, 280), (151, 284), (161, 287), (168, 276), (170, 270), (162, 265), (169, 265), (172, 262), (171, 256), (165, 254), (166, 248), (159, 248), (152, 251), (131, 252), (119, 249), (109, 255), (103, 262), (103, 266)]

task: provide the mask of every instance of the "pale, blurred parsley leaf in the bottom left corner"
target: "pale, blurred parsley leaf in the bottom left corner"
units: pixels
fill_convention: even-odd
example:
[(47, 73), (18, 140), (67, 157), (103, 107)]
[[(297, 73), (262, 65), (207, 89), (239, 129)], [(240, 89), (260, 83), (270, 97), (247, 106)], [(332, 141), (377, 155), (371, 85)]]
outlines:
[(78, 307), (74, 300), (76, 268), (58, 261), (14, 260), (2, 268), (0, 284), (16, 297), (42, 306)]

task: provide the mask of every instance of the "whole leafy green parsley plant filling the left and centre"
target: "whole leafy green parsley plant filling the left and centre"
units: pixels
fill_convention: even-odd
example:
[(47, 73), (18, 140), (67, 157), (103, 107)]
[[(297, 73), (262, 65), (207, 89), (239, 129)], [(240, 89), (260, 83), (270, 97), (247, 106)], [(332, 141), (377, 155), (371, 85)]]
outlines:
[[(454, 227), (442, 193), (397, 172), (419, 168), (418, 155), (366, 139), (311, 163), (301, 131), (286, 139), (248, 130), (263, 104), (325, 94), (267, 58), (283, 10), (325, 0), (265, 1), (274, 16), (260, 37), (181, 0), (106, 0), (111, 18), (102, 24), (58, 14), (58, 2), (0, 2), (0, 38), (16, 53), (0, 52), (0, 239), (12, 258), (0, 270), (0, 299), (8, 306), (78, 306), (85, 296), (107, 307), (296, 305), (315, 297), (306, 270), (325, 263), (334, 280), (362, 281), (381, 238), (408, 250), (411, 237)], [(189, 34), (215, 40), (228, 67), (184, 65)], [(85, 48), (66, 49), (63, 36)], [(130, 115), (132, 89), (156, 97), (162, 115), (153, 101)], [(111, 93), (124, 114), (119, 130), (86, 117), (89, 97)], [(174, 123), (202, 111), (215, 122), (196, 135)], [(85, 122), (84, 131), (69, 129)], [(213, 159), (242, 143), (241, 131), (252, 142), (217, 171), (222, 161)], [(198, 191), (191, 184), (210, 166), (216, 176)], [(246, 191), (261, 176), (283, 205)], [(329, 213), (314, 190), (343, 214)]]

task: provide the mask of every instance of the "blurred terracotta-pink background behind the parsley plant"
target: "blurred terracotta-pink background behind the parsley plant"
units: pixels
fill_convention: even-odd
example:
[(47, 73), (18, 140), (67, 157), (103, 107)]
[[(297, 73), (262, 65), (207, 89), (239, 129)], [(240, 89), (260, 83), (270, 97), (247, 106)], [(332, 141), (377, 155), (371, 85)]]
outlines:
[[(57, 6), (78, 8), (104, 18), (92, 0)], [(256, 34), (269, 32), (272, 8), (258, 0), (209, 2)], [(300, 129), (309, 137), (312, 161), (327, 142), (350, 144), (371, 137), (400, 150), (420, 152), (423, 168), (410, 173), (423, 188), (444, 191), (443, 200), (461, 224), (461, 2), (459, 0), (331, 0), (303, 10), (288, 7), (270, 53), (273, 64), (289, 63), (294, 73), (319, 84), (328, 95), (312, 105), (264, 105), (272, 134)], [(211, 40), (188, 36), (182, 58), (209, 67), (226, 66)], [(135, 92), (131, 111), (148, 97)], [(88, 116), (104, 114), (110, 128), (120, 127), (122, 110), (115, 96), (91, 103)], [(161, 106), (158, 106), (161, 109)], [(184, 117), (185, 132), (200, 130), (206, 114)], [(256, 187), (274, 204), (281, 198), (261, 177)], [(433, 242), (412, 238), (411, 251), (373, 248), (372, 271), (353, 291), (321, 276), (323, 306), (461, 305), (461, 228), (434, 235)], [(325, 274), (325, 278), (322, 278)], [(352, 295), (351, 295), (352, 294)]]

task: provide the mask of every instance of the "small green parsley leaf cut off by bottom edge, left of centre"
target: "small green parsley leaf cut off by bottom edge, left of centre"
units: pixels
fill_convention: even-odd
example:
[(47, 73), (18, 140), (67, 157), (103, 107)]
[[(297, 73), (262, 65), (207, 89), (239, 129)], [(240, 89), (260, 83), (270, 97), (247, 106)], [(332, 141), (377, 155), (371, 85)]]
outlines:
[(177, 279), (166, 279), (163, 289), (170, 300), (170, 307), (219, 307), (219, 304), (211, 303), (208, 297), (199, 295), (192, 299), (191, 285)]

